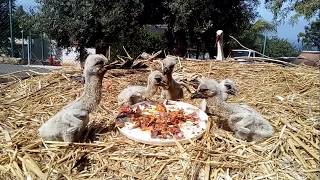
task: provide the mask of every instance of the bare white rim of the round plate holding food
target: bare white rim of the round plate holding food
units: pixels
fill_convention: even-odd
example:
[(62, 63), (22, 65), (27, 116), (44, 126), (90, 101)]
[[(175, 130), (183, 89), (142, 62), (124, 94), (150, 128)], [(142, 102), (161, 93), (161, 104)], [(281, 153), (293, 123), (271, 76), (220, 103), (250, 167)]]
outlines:
[[(197, 113), (199, 117), (198, 127), (197, 125), (192, 126), (191, 129), (190, 126), (188, 126), (188, 128), (180, 127), (184, 134), (184, 137), (181, 139), (152, 138), (150, 131), (142, 131), (140, 128), (133, 128), (133, 124), (130, 122), (126, 122), (124, 127), (119, 128), (120, 133), (131, 140), (150, 145), (175, 145), (176, 142), (185, 144), (189, 143), (190, 140), (198, 139), (203, 135), (208, 122), (208, 115), (205, 112), (196, 106), (184, 102), (168, 101), (167, 104), (170, 104), (166, 105), (167, 108), (174, 106), (175, 108), (182, 109), (187, 114), (191, 114), (193, 112)], [(193, 129), (196, 133), (192, 133), (194, 132)]]

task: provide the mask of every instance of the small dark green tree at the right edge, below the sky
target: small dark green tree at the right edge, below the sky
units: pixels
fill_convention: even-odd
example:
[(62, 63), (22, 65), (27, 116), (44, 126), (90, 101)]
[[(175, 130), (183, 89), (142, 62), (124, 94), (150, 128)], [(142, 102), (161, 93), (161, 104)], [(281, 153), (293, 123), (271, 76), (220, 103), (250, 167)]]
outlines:
[(320, 19), (313, 21), (305, 27), (304, 33), (299, 33), (298, 41), (302, 42), (305, 49), (320, 50)]

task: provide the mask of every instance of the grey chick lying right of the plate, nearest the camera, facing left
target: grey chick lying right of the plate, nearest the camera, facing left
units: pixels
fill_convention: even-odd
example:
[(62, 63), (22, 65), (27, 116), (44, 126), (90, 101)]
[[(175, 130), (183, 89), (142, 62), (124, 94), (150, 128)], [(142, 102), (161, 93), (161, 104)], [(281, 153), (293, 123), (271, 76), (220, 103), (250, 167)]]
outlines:
[(257, 111), (245, 104), (226, 103), (219, 89), (216, 81), (201, 81), (192, 98), (206, 99), (208, 111), (226, 118), (230, 129), (239, 139), (258, 141), (272, 136), (271, 124)]

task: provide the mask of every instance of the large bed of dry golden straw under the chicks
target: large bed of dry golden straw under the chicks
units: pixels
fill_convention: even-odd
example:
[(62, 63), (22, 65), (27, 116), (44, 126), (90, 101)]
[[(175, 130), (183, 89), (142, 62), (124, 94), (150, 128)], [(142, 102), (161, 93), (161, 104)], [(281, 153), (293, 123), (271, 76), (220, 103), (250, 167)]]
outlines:
[[(83, 142), (44, 143), (37, 129), (83, 91), (80, 72), (63, 69), (1, 87), (0, 177), (4, 179), (317, 179), (319, 178), (319, 72), (272, 64), (182, 61), (185, 74), (235, 80), (245, 102), (268, 119), (273, 137), (244, 142), (219, 127), (190, 144), (158, 147), (133, 142), (114, 128), (116, 95), (145, 84), (148, 70), (111, 70), (103, 100), (90, 115)], [(179, 69), (179, 65), (177, 65)], [(181, 71), (181, 69), (180, 69)], [(186, 92), (185, 101), (191, 101)]]

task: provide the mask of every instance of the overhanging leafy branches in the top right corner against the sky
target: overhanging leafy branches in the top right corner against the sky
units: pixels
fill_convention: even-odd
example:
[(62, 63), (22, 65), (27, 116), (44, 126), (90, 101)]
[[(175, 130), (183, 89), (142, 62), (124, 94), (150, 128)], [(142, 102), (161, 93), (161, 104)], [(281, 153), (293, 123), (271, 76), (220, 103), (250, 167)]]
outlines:
[(292, 10), (295, 11), (293, 19), (303, 16), (311, 19), (320, 15), (319, 0), (265, 0), (267, 8), (270, 9), (275, 19), (284, 19)]

